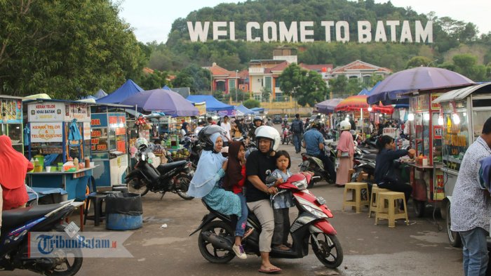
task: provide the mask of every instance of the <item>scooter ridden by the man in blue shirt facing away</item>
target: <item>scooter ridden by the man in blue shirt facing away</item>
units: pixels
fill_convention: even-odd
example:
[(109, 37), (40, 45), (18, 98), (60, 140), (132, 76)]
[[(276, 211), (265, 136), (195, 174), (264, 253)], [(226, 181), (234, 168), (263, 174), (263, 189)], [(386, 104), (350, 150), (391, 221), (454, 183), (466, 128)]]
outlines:
[[(324, 155), (327, 155), (331, 159), (331, 163), (333, 166), (334, 164), (336, 164), (336, 150), (330, 145), (330, 143), (326, 141), (324, 141)], [(312, 155), (308, 155), (306, 152), (302, 152), (302, 163), (300, 163), (298, 166), (300, 166), (300, 171), (302, 172), (313, 171), (314, 176), (318, 176), (317, 178), (314, 178), (316, 180), (324, 179), (328, 183), (334, 183), (336, 181), (335, 179), (330, 178), (328, 170), (324, 168), (324, 164), (321, 159), (318, 159), (317, 157), (314, 157)], [(309, 183), (309, 188), (312, 188), (314, 186), (314, 182), (316, 182), (316, 180), (313, 180), (311, 181), (311, 183)]]

